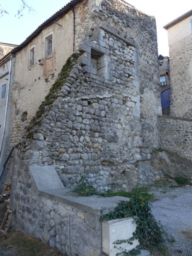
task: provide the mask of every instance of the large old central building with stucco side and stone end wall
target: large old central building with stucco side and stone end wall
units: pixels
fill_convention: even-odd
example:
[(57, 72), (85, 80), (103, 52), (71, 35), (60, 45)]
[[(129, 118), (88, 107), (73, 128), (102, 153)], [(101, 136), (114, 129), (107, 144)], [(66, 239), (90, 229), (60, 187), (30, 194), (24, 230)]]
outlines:
[[(105, 2), (72, 4), (74, 10), (63, 8), (62, 15), (53, 15), (14, 51), (10, 144), (26, 138), (27, 125), (62, 65), (72, 52), (77, 52), (80, 54), (75, 67), (78, 72), (69, 73), (74, 76), (72, 82), (76, 88), (70, 88), (70, 78), (59, 92), (64, 98), (59, 94), (61, 98), (53, 102), (53, 105), (61, 104), (58, 99), (64, 102), (62, 118), (47, 109), (47, 114), (38, 121), (37, 131), (44, 137), (40, 146), (43, 151), (36, 141), (35, 146), (27, 141), (30, 150), (26, 152), (30, 151), (31, 157), (25, 157), (25, 161), (28, 159), (25, 168), (28, 163), (54, 165), (67, 186), (83, 173), (98, 190), (103, 190), (103, 186), (107, 189), (114, 180), (127, 188), (138, 182), (147, 184), (149, 177), (146, 178), (145, 170), (142, 173), (137, 162), (141, 161), (142, 165), (143, 160), (150, 159), (152, 148), (158, 146), (156, 114), (161, 109), (158, 86), (154, 85), (158, 84), (155, 20), (120, 1), (112, 2), (111, 8), (103, 7), (107, 6)], [(118, 15), (121, 6), (125, 13)], [(101, 10), (106, 14), (100, 16)], [(109, 18), (105, 20), (104, 15)], [(68, 25), (63, 25), (66, 22)], [(142, 31), (139, 24), (143, 22), (146, 22), (145, 30), (149, 27), (153, 33)], [(115, 24), (113, 28), (110, 23)], [(46, 52), (48, 43), (52, 47), (49, 53)], [(144, 66), (149, 62), (154, 68), (147, 71)], [(54, 111), (53, 105), (46, 107)], [(151, 180), (154, 176), (151, 175)]]

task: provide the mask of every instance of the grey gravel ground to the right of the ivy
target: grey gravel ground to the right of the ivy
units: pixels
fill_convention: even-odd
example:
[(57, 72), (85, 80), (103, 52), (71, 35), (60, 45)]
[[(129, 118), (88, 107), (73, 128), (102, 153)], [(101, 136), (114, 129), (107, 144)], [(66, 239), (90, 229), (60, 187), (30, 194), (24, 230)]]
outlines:
[(168, 235), (170, 256), (192, 256), (192, 186), (152, 188), (151, 211)]

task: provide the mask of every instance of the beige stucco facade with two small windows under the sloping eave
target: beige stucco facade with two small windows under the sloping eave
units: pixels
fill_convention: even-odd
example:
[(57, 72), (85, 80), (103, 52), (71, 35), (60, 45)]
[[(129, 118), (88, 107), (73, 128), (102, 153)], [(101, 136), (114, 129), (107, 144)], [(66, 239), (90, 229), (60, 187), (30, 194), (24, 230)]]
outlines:
[[(73, 52), (73, 14), (69, 11), (52, 23), (16, 54), (13, 93), (14, 107), (20, 118), (27, 112), (33, 116), (48, 93), (63, 63)], [(52, 36), (52, 54), (45, 57), (45, 38)], [(70, 42), (70, 43), (69, 43)], [(29, 66), (29, 52), (34, 47), (34, 64)], [(28, 57), (26, 57), (28, 56)], [(41, 63), (40, 63), (41, 61)], [(43, 62), (43, 63), (42, 63)]]

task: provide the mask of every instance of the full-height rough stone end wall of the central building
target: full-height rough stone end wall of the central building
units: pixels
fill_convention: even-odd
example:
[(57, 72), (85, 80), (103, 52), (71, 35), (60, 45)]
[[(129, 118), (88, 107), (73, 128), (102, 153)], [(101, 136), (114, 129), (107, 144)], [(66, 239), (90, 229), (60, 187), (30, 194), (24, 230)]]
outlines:
[[(138, 163), (158, 145), (161, 108), (155, 20), (121, 1), (85, 4), (78, 5), (84, 16), (76, 15), (81, 56), (43, 114), (23, 164), (53, 164), (69, 187), (84, 174), (100, 191), (146, 185), (154, 178), (147, 181), (147, 168), (139, 175)], [(22, 120), (11, 139), (23, 133)]]

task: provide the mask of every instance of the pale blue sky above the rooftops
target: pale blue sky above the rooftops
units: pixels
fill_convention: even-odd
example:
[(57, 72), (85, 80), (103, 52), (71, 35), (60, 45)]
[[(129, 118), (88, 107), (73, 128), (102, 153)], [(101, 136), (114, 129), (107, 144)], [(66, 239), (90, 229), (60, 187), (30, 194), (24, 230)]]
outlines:
[[(173, 0), (126, 0), (137, 9), (155, 16), (157, 26), (158, 53), (168, 56), (167, 31), (163, 25), (179, 17), (191, 9), (191, 1)], [(29, 36), (42, 22), (49, 18), (68, 0), (25, 0), (34, 11), (28, 13), (24, 10), (23, 16), (18, 18), (14, 15), (19, 9), (21, 0), (0, 0), (0, 4), (9, 14), (0, 17), (0, 42), (20, 44)]]

